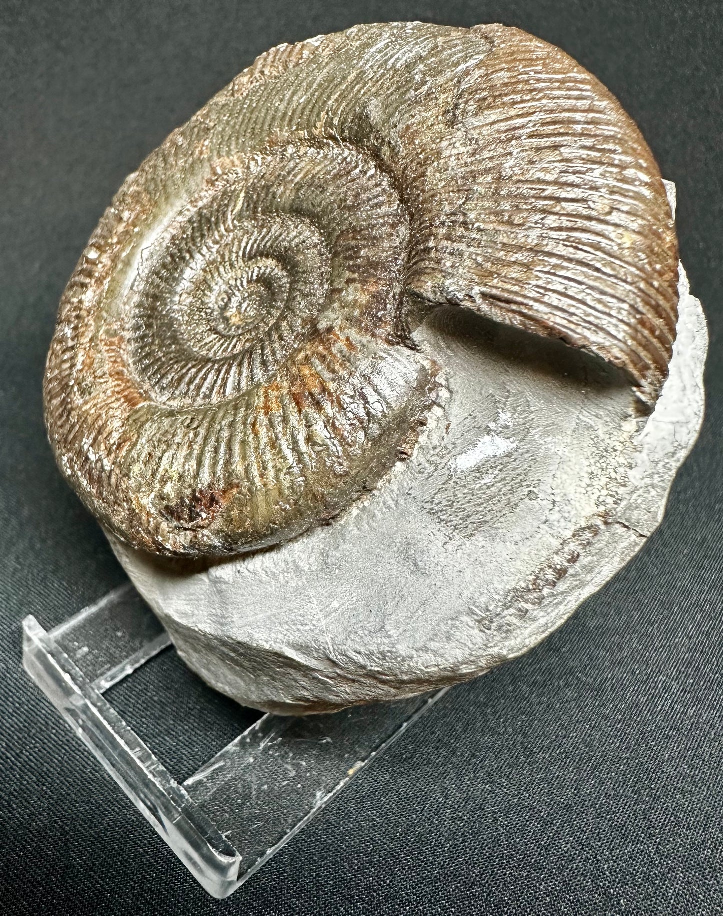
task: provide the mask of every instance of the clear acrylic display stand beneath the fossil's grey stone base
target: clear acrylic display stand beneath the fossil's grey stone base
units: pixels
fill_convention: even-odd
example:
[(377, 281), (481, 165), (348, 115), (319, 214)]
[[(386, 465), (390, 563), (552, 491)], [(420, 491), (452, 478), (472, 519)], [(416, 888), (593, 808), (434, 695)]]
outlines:
[(23, 621), (23, 665), (216, 898), (233, 893), (445, 690), (341, 713), (262, 715), (179, 783), (103, 693), (170, 646), (130, 584), (59, 627)]

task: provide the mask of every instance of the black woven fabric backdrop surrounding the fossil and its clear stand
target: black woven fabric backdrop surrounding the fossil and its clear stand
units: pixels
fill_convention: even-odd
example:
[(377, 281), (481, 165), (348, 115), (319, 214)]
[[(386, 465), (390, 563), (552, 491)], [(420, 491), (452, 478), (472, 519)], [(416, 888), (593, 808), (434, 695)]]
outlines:
[[(662, 528), (526, 657), (457, 688), (229, 900), (208, 897), (20, 668), (123, 580), (60, 480), (40, 378), (126, 173), (260, 51), (359, 21), (503, 21), (595, 72), (677, 182), (711, 331), (707, 422)], [(0, 911), (723, 912), (719, 0), (0, 5)], [(113, 700), (181, 779), (247, 715), (172, 653)], [(130, 684), (130, 682), (128, 682)]]

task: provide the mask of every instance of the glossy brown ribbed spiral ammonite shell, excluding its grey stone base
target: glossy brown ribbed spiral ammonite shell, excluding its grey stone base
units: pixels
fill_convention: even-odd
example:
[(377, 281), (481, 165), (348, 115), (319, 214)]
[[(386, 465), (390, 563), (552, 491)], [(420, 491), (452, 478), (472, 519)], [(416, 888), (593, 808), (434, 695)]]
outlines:
[(411, 301), (586, 348), (652, 403), (676, 278), (649, 148), (560, 49), (422, 23), (281, 45), (104, 213), (60, 302), (49, 439), (129, 543), (255, 549), (409, 453), (437, 385)]

